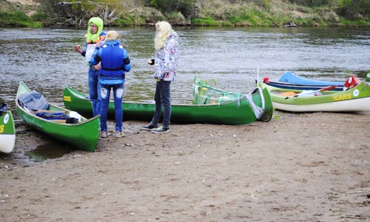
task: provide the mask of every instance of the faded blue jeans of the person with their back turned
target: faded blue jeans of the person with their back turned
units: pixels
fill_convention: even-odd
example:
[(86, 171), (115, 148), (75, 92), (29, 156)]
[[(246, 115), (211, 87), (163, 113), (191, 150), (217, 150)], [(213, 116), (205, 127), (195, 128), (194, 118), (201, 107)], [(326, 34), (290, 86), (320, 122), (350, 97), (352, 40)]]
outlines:
[(116, 132), (122, 132), (122, 121), (123, 121), (123, 110), (122, 110), (122, 99), (123, 99), (123, 84), (99, 84), (100, 88), (100, 129), (101, 131), (108, 132), (107, 127), (107, 116), (108, 116), (108, 106), (110, 90), (113, 89), (114, 96), (114, 114), (116, 120)]

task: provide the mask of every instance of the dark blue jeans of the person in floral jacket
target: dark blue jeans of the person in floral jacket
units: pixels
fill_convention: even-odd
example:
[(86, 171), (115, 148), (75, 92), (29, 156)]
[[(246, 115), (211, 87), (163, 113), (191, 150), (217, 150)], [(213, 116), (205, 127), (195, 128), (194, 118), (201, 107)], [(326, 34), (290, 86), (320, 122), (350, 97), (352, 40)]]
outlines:
[(163, 112), (163, 127), (169, 127), (171, 120), (171, 97), (170, 97), (170, 81), (161, 81), (156, 84), (156, 93), (154, 95), (154, 101), (156, 101), (156, 111), (154, 112), (151, 123), (158, 125), (160, 120), (160, 114), (162, 112), (162, 106), (164, 107)]

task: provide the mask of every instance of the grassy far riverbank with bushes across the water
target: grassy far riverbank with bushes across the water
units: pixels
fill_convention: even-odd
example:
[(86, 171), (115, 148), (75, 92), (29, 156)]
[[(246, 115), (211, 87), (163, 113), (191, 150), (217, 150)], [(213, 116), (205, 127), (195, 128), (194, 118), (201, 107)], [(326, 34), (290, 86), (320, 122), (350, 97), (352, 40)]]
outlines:
[[(301, 26), (357, 24), (370, 26), (369, 0), (38, 0), (36, 13), (0, 12), (3, 26), (36, 23), (41, 26), (84, 26), (91, 16), (105, 25), (153, 25), (167, 20), (173, 25)], [(280, 14), (277, 8), (285, 7)], [(301, 18), (284, 14), (291, 10), (312, 14)], [(21, 20), (18, 22), (14, 22)], [(26, 26), (26, 25), (24, 25)]]

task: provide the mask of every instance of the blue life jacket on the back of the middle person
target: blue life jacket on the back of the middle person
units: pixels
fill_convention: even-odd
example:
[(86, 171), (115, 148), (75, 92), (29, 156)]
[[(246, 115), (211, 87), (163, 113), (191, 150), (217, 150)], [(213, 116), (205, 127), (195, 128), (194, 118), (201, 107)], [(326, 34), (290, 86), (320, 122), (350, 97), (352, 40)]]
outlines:
[(119, 76), (125, 75), (123, 58), (125, 49), (119, 42), (108, 43), (101, 48), (101, 75)]

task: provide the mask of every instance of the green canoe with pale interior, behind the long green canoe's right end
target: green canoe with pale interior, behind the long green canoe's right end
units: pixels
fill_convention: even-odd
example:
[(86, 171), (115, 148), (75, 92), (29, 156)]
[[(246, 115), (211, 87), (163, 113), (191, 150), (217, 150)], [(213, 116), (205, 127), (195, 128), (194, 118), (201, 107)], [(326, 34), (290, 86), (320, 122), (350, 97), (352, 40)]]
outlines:
[[(273, 114), (273, 103), (269, 90), (257, 87), (248, 94), (232, 93), (214, 88), (198, 77), (193, 82), (193, 103), (194, 104), (217, 104), (225, 102), (239, 102), (247, 100), (250, 110), (254, 112), (258, 121), (268, 122)], [(248, 113), (251, 114), (251, 113)]]

